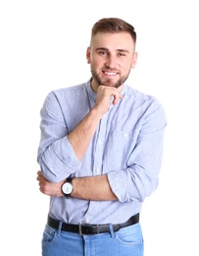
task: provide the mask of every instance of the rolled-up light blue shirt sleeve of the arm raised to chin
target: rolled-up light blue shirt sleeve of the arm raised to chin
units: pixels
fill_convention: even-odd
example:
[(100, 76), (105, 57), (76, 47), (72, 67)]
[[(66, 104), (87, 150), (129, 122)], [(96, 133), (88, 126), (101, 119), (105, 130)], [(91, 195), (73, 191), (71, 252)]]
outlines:
[(59, 182), (80, 167), (68, 140), (68, 127), (57, 96), (50, 93), (40, 111), (41, 138), (37, 161), (44, 176), (51, 182)]

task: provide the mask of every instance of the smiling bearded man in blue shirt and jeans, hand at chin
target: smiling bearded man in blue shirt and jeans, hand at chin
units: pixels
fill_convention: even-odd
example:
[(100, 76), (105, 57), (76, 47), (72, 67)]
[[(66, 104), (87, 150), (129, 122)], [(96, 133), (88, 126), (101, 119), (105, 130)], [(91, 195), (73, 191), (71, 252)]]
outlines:
[(86, 51), (87, 83), (51, 92), (41, 109), (37, 180), (50, 196), (43, 256), (142, 256), (139, 213), (157, 188), (167, 125), (153, 96), (124, 82), (136, 33), (98, 21)]

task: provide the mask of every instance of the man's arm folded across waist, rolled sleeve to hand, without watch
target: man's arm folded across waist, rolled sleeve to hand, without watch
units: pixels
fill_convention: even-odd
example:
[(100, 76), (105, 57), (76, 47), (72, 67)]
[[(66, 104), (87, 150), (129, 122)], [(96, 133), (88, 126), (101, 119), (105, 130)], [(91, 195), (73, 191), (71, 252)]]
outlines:
[[(157, 121), (161, 119), (161, 112)], [(163, 114), (164, 115), (164, 114)], [(127, 166), (107, 175), (78, 177), (73, 179), (72, 196), (85, 200), (119, 200), (120, 202), (143, 201), (158, 186), (158, 176), (163, 155), (165, 119), (158, 130), (148, 126), (140, 132), (136, 147), (127, 160)], [(155, 120), (153, 119), (153, 123)], [(158, 121), (159, 123), (159, 121)], [(152, 129), (152, 130), (150, 130)], [(40, 191), (49, 196), (63, 196), (64, 181), (51, 183), (38, 172)]]

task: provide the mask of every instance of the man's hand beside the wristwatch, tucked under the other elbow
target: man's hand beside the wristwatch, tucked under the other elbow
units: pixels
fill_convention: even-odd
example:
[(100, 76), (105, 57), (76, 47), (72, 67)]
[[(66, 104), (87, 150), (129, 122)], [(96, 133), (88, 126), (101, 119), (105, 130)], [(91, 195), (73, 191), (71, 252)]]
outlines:
[(65, 181), (61, 181), (58, 183), (52, 183), (50, 181), (48, 181), (44, 176), (43, 173), (41, 172), (41, 170), (37, 171), (37, 177), (36, 179), (38, 180), (38, 185), (39, 185), (39, 190), (48, 196), (52, 196), (52, 197), (61, 197), (63, 196), (62, 191), (61, 191), (61, 187), (62, 184)]

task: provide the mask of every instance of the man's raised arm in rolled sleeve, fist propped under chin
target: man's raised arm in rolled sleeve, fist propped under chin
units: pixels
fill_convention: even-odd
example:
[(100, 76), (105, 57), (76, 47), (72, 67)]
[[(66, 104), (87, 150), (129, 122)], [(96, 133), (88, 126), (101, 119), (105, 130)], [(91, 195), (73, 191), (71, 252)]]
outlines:
[[(47, 96), (41, 109), (41, 140), (37, 160), (44, 176), (51, 182), (59, 182), (75, 171), (81, 171), (81, 160), (101, 117), (110, 107), (110, 96), (115, 97), (113, 103), (122, 97), (117, 89), (101, 86), (94, 107), (90, 110), (85, 103), (81, 109), (78, 103), (74, 117), (75, 102), (71, 97), (74, 98), (75, 94), (76, 91), (73, 95), (52, 93)], [(86, 91), (77, 92), (77, 98), (83, 98), (86, 102)]]

